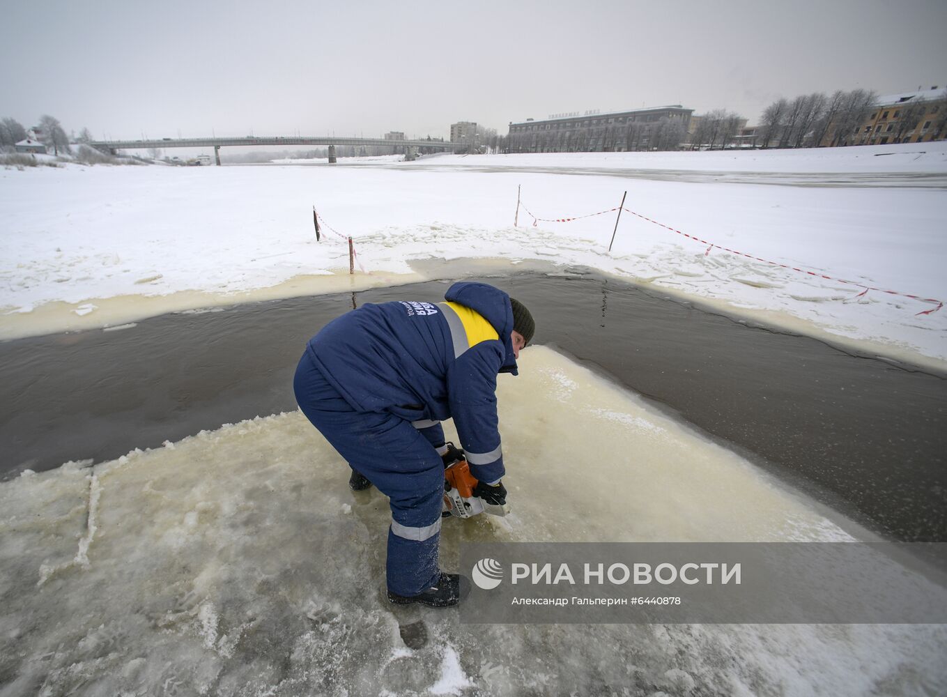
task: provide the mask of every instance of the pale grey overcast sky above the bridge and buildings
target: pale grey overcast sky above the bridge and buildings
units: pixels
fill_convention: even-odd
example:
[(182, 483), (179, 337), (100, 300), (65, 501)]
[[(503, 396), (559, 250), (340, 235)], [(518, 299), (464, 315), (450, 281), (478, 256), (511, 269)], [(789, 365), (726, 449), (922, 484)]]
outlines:
[(471, 120), (947, 86), (947, 0), (5, 2), (0, 116), (97, 137), (448, 136)]

